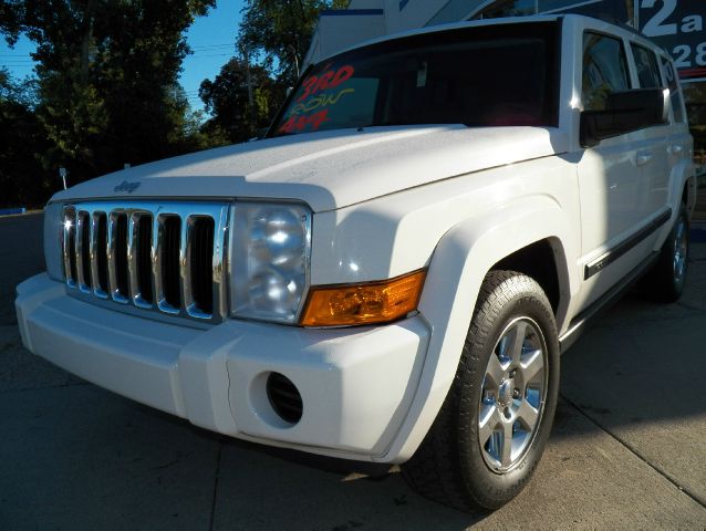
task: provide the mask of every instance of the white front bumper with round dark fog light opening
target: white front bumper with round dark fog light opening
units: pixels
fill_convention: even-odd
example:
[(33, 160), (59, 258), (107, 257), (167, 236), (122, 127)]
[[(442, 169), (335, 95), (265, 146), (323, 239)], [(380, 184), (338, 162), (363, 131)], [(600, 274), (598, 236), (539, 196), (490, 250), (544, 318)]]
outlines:
[[(430, 335), (418, 316), (355, 329), (229, 320), (197, 330), (77, 301), (44, 273), (18, 285), (15, 309), (27, 348), (110, 391), (233, 437), (385, 462), (396, 460), (393, 442), (402, 446), (395, 438)], [(293, 426), (267, 397), (271, 372), (301, 394)]]

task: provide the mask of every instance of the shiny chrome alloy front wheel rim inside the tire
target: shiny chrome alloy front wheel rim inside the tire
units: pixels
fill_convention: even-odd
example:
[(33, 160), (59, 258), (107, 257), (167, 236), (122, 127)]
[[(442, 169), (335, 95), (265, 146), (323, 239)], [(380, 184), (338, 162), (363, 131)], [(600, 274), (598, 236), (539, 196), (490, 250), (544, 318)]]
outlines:
[(515, 468), (530, 448), (547, 400), (547, 343), (529, 317), (510, 322), (486, 367), (478, 405), (478, 442), (494, 472)]

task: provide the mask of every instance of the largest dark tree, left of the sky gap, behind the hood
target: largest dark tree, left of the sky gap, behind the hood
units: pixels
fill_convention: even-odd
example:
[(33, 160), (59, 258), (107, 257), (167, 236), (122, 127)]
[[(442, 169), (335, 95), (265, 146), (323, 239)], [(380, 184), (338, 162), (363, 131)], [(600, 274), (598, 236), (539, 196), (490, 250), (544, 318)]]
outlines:
[[(184, 153), (184, 31), (215, 0), (25, 0), (46, 166), (85, 179)], [(74, 180), (75, 183), (75, 180)]]

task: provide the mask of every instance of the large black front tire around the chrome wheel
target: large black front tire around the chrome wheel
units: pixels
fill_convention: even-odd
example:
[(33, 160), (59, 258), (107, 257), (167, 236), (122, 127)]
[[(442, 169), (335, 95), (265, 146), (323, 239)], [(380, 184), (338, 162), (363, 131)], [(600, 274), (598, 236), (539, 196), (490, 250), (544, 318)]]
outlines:
[[(520, 376), (517, 369), (513, 375), (512, 367), (519, 366), (515, 358), (510, 360), (507, 371), (502, 368), (509, 360), (505, 354), (512, 331), (517, 331), (517, 336), (522, 334), (522, 346), (518, 351), (518, 344), (515, 343), (512, 351), (527, 352), (529, 356), (531, 352), (526, 346), (541, 346), (541, 376), (530, 379), (530, 371), (526, 368), (522, 368)], [(554, 315), (539, 284), (521, 273), (491, 271), (481, 287), (454, 384), (421, 447), (402, 467), (412, 488), (426, 498), (467, 512), (495, 510), (515, 498), (534, 472), (551, 431), (559, 389), (559, 355)], [(499, 364), (491, 364), (491, 356)], [(521, 356), (520, 360), (523, 360), (525, 354)], [(536, 366), (537, 357), (532, 360), (534, 362), (528, 362), (528, 366)], [(498, 367), (506, 371), (508, 378), (491, 376), (491, 373), (497, 374), (491, 369)], [(525, 374), (528, 375), (528, 382), (518, 382)], [(540, 379), (537, 378), (543, 382), (540, 392), (530, 389), (531, 385), (539, 385)], [(500, 379), (503, 384), (496, 385), (494, 379)], [(509, 388), (525, 386), (522, 391), (508, 396)], [(528, 416), (528, 410), (522, 409), (523, 417), (520, 417), (519, 409), (513, 408), (517, 402), (522, 407), (526, 402), (530, 403), (530, 392), (537, 396), (543, 395), (543, 400), (532, 395), (539, 414), (533, 429), (526, 435), (523, 417)], [(505, 409), (499, 413), (501, 408)], [(485, 437), (488, 430), (479, 426), (481, 410), (484, 419), (492, 419), (487, 426), (496, 426), (485, 444), (480, 440), (480, 434)], [(500, 415), (503, 415), (505, 420)], [(506, 448), (505, 444), (499, 445), (497, 434), (502, 427), (507, 429), (507, 425), (511, 426), (512, 440), (516, 426), (518, 437), (525, 439), (518, 455), (510, 457), (506, 467), (500, 462), (502, 457), (498, 461), (494, 459), (494, 451)], [(507, 437), (507, 434), (503, 430), (499, 437)]]

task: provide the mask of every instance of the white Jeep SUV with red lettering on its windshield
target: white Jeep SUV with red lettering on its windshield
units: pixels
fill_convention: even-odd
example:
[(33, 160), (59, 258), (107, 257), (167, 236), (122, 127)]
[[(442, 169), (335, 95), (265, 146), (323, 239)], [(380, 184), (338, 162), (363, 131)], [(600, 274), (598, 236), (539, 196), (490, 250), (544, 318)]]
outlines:
[(195, 425), (498, 508), (589, 317), (643, 273), (679, 296), (692, 152), (672, 60), (627, 29), (381, 39), (310, 67), (267, 138), (56, 194), (22, 340)]

